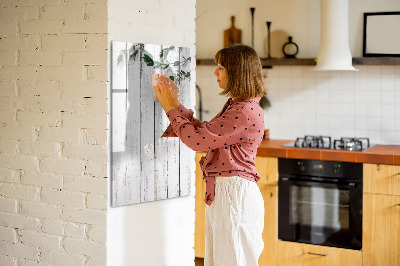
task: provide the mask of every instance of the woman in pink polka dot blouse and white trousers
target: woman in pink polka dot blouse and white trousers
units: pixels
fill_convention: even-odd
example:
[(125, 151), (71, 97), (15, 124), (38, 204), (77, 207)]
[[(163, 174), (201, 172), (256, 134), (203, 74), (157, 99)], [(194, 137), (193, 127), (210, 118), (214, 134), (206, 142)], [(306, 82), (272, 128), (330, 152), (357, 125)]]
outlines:
[(206, 182), (205, 265), (258, 265), (264, 248), (264, 201), (254, 158), (264, 134), (262, 68), (246, 45), (224, 48), (215, 55), (220, 95), (230, 98), (211, 121), (193, 117), (177, 99), (167, 77), (153, 89), (170, 125), (163, 137), (178, 136), (195, 151), (208, 151), (200, 167)]

